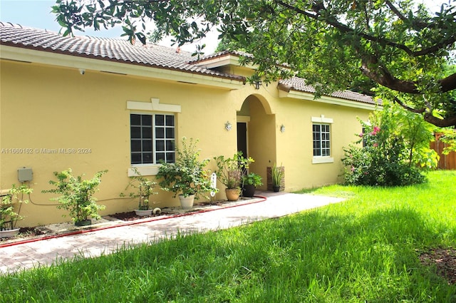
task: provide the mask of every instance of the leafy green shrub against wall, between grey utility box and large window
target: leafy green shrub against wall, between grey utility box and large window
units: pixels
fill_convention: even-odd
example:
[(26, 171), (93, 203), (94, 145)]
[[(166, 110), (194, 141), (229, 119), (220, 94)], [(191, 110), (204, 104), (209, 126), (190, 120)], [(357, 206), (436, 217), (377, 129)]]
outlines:
[[(101, 176), (107, 173), (108, 170), (101, 170), (95, 173), (95, 176), (90, 180), (83, 180), (82, 176), (73, 176), (71, 168), (63, 170), (61, 173), (54, 172), (58, 181), (50, 180), (49, 184), (56, 188), (52, 190), (43, 190), (43, 192), (51, 192), (60, 197), (53, 197), (51, 200), (58, 201), (59, 209), (68, 210), (71, 220), (76, 226), (84, 226), (92, 224), (92, 220), (100, 219), (98, 210), (105, 209), (104, 205), (98, 205), (96, 198), (93, 197), (95, 191), (98, 191), (98, 185), (101, 183)], [(63, 215), (65, 217), (65, 215)]]

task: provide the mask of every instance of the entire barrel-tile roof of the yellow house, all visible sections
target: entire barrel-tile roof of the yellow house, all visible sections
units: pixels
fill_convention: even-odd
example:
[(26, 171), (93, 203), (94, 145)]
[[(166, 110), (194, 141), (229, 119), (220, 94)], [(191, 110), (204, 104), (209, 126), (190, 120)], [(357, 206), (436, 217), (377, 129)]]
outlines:
[[(186, 73), (196, 73), (204, 76), (226, 78), (233, 81), (245, 82), (244, 76), (222, 73), (204, 68), (201, 63), (224, 56), (252, 56), (242, 51), (222, 51), (207, 56), (195, 58), (186, 51), (177, 52), (175, 48), (156, 44), (131, 44), (121, 38), (97, 38), (89, 36), (62, 36), (53, 31), (23, 27), (0, 21), (0, 40), (3, 46), (28, 48), (36, 51), (48, 51), (69, 56), (80, 56), (104, 61), (116, 61), (140, 66), (150, 66)], [(315, 93), (315, 89), (307, 86), (302, 78), (291, 78), (279, 81), (282, 91), (299, 91)], [(338, 91), (332, 97), (342, 98), (361, 103), (375, 104), (371, 96), (352, 91)]]

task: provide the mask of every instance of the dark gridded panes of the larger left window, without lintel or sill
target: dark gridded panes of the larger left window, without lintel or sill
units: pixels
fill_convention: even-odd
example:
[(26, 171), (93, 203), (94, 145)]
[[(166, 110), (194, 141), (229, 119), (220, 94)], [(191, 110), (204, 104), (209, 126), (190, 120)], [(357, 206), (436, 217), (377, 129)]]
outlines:
[(132, 165), (175, 162), (175, 115), (130, 113)]

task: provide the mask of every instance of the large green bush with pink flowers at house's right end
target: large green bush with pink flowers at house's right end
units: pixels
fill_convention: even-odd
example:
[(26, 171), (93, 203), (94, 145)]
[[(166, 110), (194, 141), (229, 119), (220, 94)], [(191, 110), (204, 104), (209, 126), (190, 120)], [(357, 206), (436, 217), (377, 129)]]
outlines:
[[(344, 149), (345, 183), (395, 186), (421, 183), (420, 168), (435, 168), (437, 153), (431, 150), (432, 128), (415, 113), (385, 103), (369, 123), (361, 121), (363, 133), (356, 144)], [(363, 146), (360, 146), (360, 143)]]

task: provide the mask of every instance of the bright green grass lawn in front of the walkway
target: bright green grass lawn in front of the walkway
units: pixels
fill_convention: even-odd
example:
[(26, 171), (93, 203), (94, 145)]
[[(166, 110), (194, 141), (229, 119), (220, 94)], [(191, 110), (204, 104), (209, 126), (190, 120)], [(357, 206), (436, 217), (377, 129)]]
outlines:
[(456, 172), (408, 188), (334, 185), (318, 210), (0, 277), (1, 302), (456, 302), (420, 264), (455, 245)]

